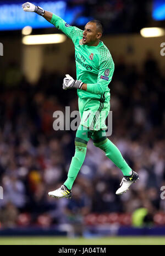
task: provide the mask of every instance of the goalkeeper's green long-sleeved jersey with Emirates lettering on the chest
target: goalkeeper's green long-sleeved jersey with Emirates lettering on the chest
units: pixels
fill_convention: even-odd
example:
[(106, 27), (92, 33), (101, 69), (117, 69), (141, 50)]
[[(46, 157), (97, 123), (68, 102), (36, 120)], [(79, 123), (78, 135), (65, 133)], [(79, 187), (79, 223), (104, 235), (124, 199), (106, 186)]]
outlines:
[(102, 41), (97, 46), (83, 45), (83, 30), (70, 26), (53, 14), (51, 23), (63, 31), (75, 46), (76, 79), (87, 84), (87, 90), (78, 89), (79, 98), (92, 98), (102, 102), (110, 100), (108, 84), (112, 80), (114, 62)]

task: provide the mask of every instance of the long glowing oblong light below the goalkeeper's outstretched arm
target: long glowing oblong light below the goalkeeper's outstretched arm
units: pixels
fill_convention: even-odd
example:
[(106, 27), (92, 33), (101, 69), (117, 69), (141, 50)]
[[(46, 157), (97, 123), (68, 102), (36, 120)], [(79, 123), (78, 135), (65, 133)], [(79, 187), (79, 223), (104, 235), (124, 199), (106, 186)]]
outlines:
[(64, 42), (66, 36), (63, 34), (47, 34), (47, 35), (26, 35), (22, 42), (25, 45), (43, 45), (43, 44), (58, 44)]

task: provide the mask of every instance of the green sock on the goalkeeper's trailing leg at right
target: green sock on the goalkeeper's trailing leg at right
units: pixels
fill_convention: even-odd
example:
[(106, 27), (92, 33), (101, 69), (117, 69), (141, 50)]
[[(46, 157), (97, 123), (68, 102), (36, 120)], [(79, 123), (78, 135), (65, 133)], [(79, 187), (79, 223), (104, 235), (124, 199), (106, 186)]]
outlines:
[(105, 151), (106, 156), (111, 159), (111, 161), (120, 169), (124, 176), (129, 176), (132, 173), (132, 169), (125, 162), (122, 154), (118, 150), (118, 148), (108, 139), (94, 143), (96, 147), (101, 148), (101, 150)]

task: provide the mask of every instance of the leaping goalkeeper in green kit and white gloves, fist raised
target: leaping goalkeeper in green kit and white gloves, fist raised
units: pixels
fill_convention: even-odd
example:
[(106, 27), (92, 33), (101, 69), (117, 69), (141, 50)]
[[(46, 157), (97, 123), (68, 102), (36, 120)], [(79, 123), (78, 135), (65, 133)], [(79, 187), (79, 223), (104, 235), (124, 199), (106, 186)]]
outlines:
[(68, 171), (65, 183), (48, 194), (55, 198), (70, 198), (72, 186), (86, 155), (87, 142), (92, 138), (94, 145), (101, 148), (106, 156), (122, 170), (124, 175), (116, 194), (123, 194), (139, 176), (125, 162), (118, 148), (106, 137), (105, 120), (110, 109), (110, 92), (108, 84), (112, 80), (114, 62), (107, 47), (100, 40), (102, 25), (98, 20), (91, 20), (84, 31), (70, 26), (57, 15), (41, 7), (26, 2), (25, 12), (42, 15), (48, 22), (63, 31), (72, 39), (75, 46), (76, 78), (66, 75), (63, 89), (77, 89), (81, 122), (76, 131), (75, 155)]

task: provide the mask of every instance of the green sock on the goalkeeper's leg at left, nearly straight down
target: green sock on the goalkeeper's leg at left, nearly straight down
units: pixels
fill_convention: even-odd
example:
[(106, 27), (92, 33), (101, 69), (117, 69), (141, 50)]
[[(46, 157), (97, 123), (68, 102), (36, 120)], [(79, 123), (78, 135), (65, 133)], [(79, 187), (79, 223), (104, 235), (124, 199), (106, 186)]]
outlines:
[(64, 183), (64, 185), (67, 186), (68, 189), (72, 189), (73, 183), (79, 173), (82, 164), (84, 163), (85, 156), (86, 145), (81, 142), (76, 142), (75, 155), (72, 158), (72, 162), (70, 163), (68, 179)]

